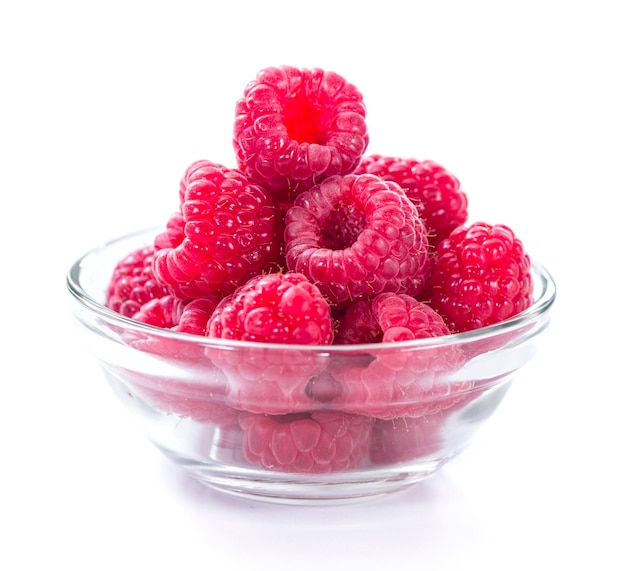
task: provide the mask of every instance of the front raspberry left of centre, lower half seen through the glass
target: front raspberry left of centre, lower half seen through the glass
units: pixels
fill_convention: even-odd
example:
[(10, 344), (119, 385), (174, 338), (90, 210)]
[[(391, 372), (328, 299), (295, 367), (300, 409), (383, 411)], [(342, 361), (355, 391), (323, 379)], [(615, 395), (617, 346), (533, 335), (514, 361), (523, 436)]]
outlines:
[[(297, 273), (252, 278), (224, 298), (208, 324), (208, 335), (264, 343), (329, 345), (330, 307), (319, 290)], [(215, 348), (213, 361), (229, 379), (231, 406), (251, 412), (285, 414), (320, 403), (307, 393), (309, 379), (325, 364), (322, 351), (268, 350), (247, 345), (236, 353)]]

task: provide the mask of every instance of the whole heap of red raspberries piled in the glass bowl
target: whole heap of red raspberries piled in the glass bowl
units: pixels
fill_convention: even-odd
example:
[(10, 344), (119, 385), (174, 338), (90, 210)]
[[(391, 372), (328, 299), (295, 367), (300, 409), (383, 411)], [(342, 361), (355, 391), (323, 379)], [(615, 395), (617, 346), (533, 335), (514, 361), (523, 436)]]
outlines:
[[(530, 260), (514, 232), (469, 223), (467, 195), (440, 164), (368, 155), (368, 144), (363, 96), (342, 76), (260, 71), (235, 105), (233, 165), (188, 166), (162, 231), (115, 268), (106, 305), (190, 335), (298, 346), (440, 337), (526, 309)], [(166, 412), (236, 426), (247, 461), (268, 470), (431, 453), (468, 388), (432, 382), (463, 362), (447, 349), (329, 366), (257, 356), (252, 372), (219, 353), (208, 355), (219, 390), (140, 384)]]

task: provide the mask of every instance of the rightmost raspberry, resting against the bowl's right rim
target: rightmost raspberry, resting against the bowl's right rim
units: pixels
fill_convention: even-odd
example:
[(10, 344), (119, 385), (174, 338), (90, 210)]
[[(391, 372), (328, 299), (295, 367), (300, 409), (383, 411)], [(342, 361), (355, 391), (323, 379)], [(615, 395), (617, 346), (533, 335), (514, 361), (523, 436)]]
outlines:
[(432, 307), (453, 332), (499, 323), (532, 303), (530, 267), (522, 242), (507, 226), (461, 226), (437, 247)]

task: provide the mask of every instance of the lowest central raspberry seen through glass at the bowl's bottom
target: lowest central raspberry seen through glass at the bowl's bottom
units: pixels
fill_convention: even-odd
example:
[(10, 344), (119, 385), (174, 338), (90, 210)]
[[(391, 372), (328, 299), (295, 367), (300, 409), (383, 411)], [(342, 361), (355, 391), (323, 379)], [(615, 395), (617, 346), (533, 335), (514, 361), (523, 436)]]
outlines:
[(372, 420), (334, 411), (284, 416), (242, 414), (243, 450), (265, 470), (327, 474), (358, 467), (367, 456)]

